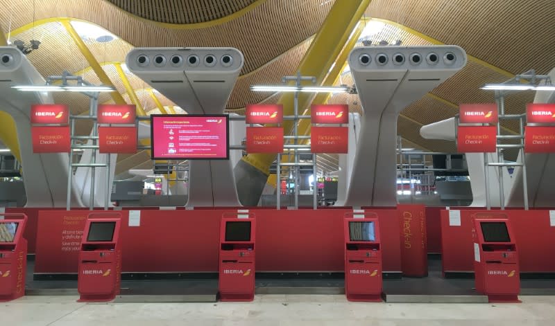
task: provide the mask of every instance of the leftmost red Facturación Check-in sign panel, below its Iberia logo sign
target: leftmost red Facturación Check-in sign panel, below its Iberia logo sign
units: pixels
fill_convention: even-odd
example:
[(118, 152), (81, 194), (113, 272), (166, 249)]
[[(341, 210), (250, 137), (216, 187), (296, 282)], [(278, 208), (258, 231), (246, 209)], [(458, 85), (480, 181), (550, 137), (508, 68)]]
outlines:
[(33, 153), (69, 153), (69, 127), (31, 127)]

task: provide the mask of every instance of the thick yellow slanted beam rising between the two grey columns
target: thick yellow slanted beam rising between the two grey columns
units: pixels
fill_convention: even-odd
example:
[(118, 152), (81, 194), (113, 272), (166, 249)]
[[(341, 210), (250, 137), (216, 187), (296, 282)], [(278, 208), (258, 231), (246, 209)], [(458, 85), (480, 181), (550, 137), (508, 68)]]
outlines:
[[(316, 33), (314, 40), (302, 58), (297, 71), (301, 75), (315, 76), (317, 84), (324, 82), (327, 72), (333, 62), (341, 53), (341, 49), (348, 41), (349, 35), (355, 28), (368, 5), (370, 0), (351, 0), (336, 1), (328, 13), (320, 30)], [(284, 114), (293, 114), (293, 94), (284, 93), (280, 98), (280, 103), (284, 105)], [(299, 96), (299, 111), (309, 105), (311, 96), (302, 93)], [(292, 127), (292, 123), (287, 121), (283, 124), (286, 132)], [(256, 167), (258, 170), (269, 174), (269, 167), (275, 160), (274, 154), (248, 154), (243, 160)]]

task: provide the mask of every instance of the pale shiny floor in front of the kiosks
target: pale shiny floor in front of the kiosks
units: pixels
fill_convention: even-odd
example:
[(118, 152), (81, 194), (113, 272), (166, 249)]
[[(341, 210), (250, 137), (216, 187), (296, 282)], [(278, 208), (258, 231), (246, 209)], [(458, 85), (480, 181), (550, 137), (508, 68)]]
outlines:
[(554, 296), (520, 304), (388, 304), (344, 296), (257, 296), (254, 302), (83, 304), (28, 296), (0, 304), (0, 325), (555, 325)]

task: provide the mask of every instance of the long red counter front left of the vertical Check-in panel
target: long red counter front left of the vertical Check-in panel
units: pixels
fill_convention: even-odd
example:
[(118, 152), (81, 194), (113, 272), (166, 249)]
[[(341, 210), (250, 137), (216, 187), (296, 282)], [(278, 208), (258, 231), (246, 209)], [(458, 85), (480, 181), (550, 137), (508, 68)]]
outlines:
[[(233, 210), (231, 210), (233, 211)], [(400, 221), (379, 216), (382, 266), (400, 272)], [(219, 226), (230, 210), (141, 210), (138, 226), (121, 211), (123, 272), (216, 272)], [(257, 271), (343, 272), (343, 215), (352, 210), (251, 210), (257, 217)], [(80, 235), (88, 211), (39, 213), (35, 273), (77, 273)], [(156, 246), (151, 243), (156, 242)], [(150, 257), (144, 260), (144, 257)], [(177, 259), (179, 258), (179, 259)]]

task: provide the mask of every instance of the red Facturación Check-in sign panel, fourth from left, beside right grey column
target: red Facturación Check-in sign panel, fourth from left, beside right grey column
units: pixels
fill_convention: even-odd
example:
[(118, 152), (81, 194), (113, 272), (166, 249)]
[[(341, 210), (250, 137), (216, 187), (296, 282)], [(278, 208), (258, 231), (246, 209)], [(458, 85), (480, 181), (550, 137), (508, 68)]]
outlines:
[(347, 153), (348, 127), (311, 127), (310, 148), (313, 153)]

